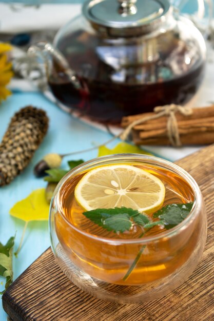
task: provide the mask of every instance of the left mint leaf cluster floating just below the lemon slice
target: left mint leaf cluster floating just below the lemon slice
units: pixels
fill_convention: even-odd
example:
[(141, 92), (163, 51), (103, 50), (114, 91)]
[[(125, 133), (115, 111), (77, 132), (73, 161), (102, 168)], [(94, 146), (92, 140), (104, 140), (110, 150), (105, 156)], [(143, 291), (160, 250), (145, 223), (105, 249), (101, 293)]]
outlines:
[(128, 231), (132, 225), (131, 217), (139, 215), (137, 210), (126, 207), (100, 208), (83, 213), (93, 223), (107, 229), (108, 231)]

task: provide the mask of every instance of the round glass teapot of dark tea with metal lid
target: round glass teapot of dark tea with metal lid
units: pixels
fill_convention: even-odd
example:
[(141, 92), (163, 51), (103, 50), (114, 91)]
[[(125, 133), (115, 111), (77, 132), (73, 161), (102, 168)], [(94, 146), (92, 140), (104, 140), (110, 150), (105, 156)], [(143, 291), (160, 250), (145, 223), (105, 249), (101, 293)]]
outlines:
[(64, 108), (118, 123), (189, 101), (203, 79), (206, 46), (169, 0), (91, 0), (53, 45), (38, 43), (29, 53), (43, 59)]

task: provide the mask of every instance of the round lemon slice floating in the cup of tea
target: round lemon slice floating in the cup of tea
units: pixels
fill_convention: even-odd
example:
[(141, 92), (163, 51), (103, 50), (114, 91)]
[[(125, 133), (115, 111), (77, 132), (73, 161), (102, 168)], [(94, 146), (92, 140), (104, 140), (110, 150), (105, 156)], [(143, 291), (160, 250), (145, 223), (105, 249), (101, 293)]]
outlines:
[(124, 206), (149, 214), (162, 206), (165, 187), (159, 178), (138, 167), (118, 164), (87, 172), (74, 195), (87, 211)]

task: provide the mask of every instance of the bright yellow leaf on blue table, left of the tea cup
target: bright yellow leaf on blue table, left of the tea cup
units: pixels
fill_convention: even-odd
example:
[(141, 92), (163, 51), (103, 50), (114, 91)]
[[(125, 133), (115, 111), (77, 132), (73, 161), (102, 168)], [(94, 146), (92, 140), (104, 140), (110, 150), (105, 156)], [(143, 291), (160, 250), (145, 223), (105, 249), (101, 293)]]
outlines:
[(25, 222), (30, 220), (48, 220), (49, 205), (45, 199), (45, 189), (37, 189), (30, 193), (28, 197), (17, 202), (10, 209), (10, 215), (23, 219)]

